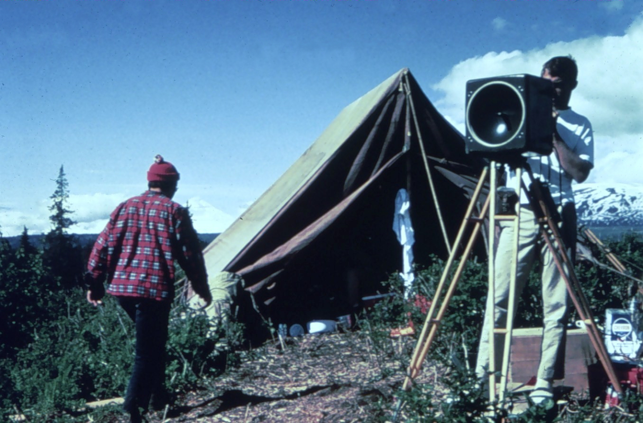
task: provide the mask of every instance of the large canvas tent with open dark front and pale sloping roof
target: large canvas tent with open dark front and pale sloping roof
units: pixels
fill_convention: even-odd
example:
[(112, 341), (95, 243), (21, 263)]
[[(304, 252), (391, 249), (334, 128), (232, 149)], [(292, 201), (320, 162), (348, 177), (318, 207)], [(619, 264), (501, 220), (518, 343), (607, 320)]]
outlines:
[[(464, 95), (464, 93), (463, 93)], [(210, 287), (276, 323), (346, 314), (401, 271), (395, 197), (410, 197), (416, 264), (446, 257), (479, 166), (408, 69), (347, 106), (204, 250)], [(229, 278), (222, 275), (236, 275)], [(251, 305), (251, 307), (249, 306)]]

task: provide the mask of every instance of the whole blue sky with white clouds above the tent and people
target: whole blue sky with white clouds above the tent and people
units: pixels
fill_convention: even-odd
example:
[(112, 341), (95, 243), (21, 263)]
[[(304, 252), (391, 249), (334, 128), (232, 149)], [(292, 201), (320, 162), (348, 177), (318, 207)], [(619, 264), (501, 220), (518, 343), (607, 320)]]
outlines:
[(0, 3), (0, 230), (48, 231), (60, 165), (75, 231), (145, 190), (162, 154), (222, 231), (341, 109), (403, 67), (464, 127), (466, 81), (572, 54), (589, 182), (643, 183), (643, 2), (43, 0)]

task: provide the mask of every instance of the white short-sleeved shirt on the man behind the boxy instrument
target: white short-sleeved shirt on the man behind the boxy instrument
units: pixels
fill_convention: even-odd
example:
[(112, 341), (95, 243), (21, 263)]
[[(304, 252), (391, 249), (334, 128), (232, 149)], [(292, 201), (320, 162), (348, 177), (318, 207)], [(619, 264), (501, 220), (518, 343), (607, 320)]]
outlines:
[[(590, 163), (594, 163), (594, 140), (592, 124), (585, 117), (566, 109), (559, 111), (556, 129), (565, 144), (578, 156)], [(572, 190), (572, 176), (561, 168), (556, 149), (549, 156), (531, 156), (527, 159), (535, 179), (545, 183), (554, 203), (564, 205), (574, 203), (574, 190)], [(517, 190), (518, 180), (513, 170), (507, 166), (507, 186)], [(523, 172), (525, 185), (530, 185), (527, 172)], [(521, 204), (529, 204), (529, 199), (523, 191), (520, 197)]]

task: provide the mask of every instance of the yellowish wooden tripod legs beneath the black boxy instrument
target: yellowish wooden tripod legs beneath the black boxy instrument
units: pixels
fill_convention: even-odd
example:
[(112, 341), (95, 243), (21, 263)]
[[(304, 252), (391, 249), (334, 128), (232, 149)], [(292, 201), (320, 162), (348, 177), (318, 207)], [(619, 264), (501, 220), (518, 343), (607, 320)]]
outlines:
[[(490, 337), (489, 337), (489, 356), (490, 356), (489, 357), (489, 399), (493, 401), (496, 398), (496, 376), (495, 376), (496, 365), (495, 365), (495, 359), (494, 359), (495, 358), (495, 354), (494, 354), (494, 335), (495, 334), (503, 334), (505, 336), (504, 351), (503, 351), (503, 357), (504, 357), (503, 368), (501, 370), (501, 377), (500, 377), (500, 390), (499, 390), (500, 401), (503, 401), (505, 397), (505, 392), (507, 392), (507, 375), (508, 375), (508, 368), (509, 368), (509, 355), (510, 355), (510, 349), (511, 349), (511, 335), (513, 330), (513, 327), (512, 327), (513, 317), (514, 317), (513, 315), (514, 315), (514, 309), (515, 309), (514, 302), (516, 300), (514, 298), (515, 297), (514, 285), (516, 281), (515, 265), (517, 264), (516, 258), (518, 254), (518, 227), (520, 225), (520, 212), (518, 212), (516, 216), (496, 215), (495, 213), (496, 167), (497, 167), (497, 163), (492, 161), (489, 167), (484, 168), (484, 170), (482, 171), (482, 174), (480, 175), (480, 179), (478, 180), (476, 188), (473, 192), (473, 195), (471, 196), (471, 201), (469, 202), (469, 206), (467, 207), (466, 214), (464, 216), (464, 219), (462, 220), (462, 224), (460, 225), (460, 230), (458, 231), (455, 242), (453, 243), (453, 248), (451, 248), (451, 254), (449, 255), (449, 258), (445, 264), (444, 271), (442, 272), (442, 276), (440, 278), (439, 284), (437, 285), (437, 288), (435, 291), (435, 295), (433, 297), (433, 301), (431, 302), (431, 307), (424, 320), (424, 326), (422, 327), (422, 331), (415, 345), (415, 350), (413, 351), (411, 363), (408, 367), (408, 373), (406, 375), (406, 379), (404, 379), (403, 390), (410, 389), (413, 379), (417, 377), (417, 375), (419, 374), (422, 368), (422, 363), (426, 358), (426, 354), (428, 354), (429, 348), (431, 347), (431, 343), (435, 338), (435, 334), (437, 333), (439, 325), (446, 314), (446, 309), (449, 305), (449, 301), (451, 300), (453, 293), (455, 293), (458, 280), (460, 279), (460, 276), (462, 275), (462, 270), (466, 265), (466, 260), (469, 258), (469, 255), (471, 254), (471, 249), (473, 249), (473, 245), (475, 244), (475, 240), (478, 236), (478, 233), (480, 233), (480, 228), (482, 226), (482, 223), (484, 222), (485, 217), (489, 217), (489, 239), (488, 239), (488, 242), (489, 242), (489, 295), (491, 296), (494, 295), (494, 279), (493, 279), (494, 256), (495, 256), (494, 255), (494, 249), (495, 249), (494, 229), (495, 229), (496, 221), (511, 219), (514, 221), (514, 229), (515, 229), (514, 242), (515, 242), (516, 248), (514, 249), (515, 251), (513, 251), (514, 269), (512, 269), (512, 273), (511, 273), (509, 306), (507, 307), (507, 325), (505, 328), (496, 328), (496, 329), (494, 329), (493, 325), (491, 325), (492, 333), (490, 334)], [(489, 171), (489, 168), (491, 168), (491, 172)], [(538, 183), (533, 183), (534, 177), (530, 172), (529, 168), (527, 168), (527, 171), (529, 172), (529, 177), (532, 181), (532, 184), (531, 184), (532, 189), (529, 192), (529, 197), (530, 197), (530, 202), (532, 204), (532, 209), (534, 210), (534, 214), (538, 219), (538, 223), (540, 226), (539, 231), (543, 236), (543, 239), (545, 240), (545, 244), (547, 248), (551, 251), (552, 256), (554, 257), (554, 262), (556, 263), (556, 266), (558, 267), (561, 275), (563, 276), (563, 280), (565, 280), (565, 285), (569, 293), (569, 296), (572, 299), (572, 302), (574, 303), (574, 307), (578, 312), (579, 317), (585, 323), (585, 327), (588, 332), (588, 336), (590, 337), (590, 341), (597, 353), (597, 356), (599, 357), (599, 360), (602, 363), (602, 366), (605, 370), (606, 375), (608, 375), (608, 378), (610, 379), (610, 382), (613, 388), (619, 394), (622, 394), (622, 387), (620, 386), (619, 379), (614, 372), (610, 357), (608, 356), (605, 345), (602, 342), (601, 334), (593, 319), (592, 311), (590, 310), (586, 297), (584, 296), (583, 291), (581, 290), (581, 284), (579, 283), (574, 273), (574, 266), (572, 265), (572, 262), (566, 253), (563, 240), (558, 230), (558, 226), (552, 217), (552, 213), (550, 212), (550, 206), (548, 205), (550, 202), (547, 201), (547, 198), (550, 199), (550, 197), (545, 197), (545, 194), (549, 195), (548, 191), (546, 193), (543, 192), (544, 191), (543, 188), (539, 186)], [(474, 216), (473, 214), (474, 214), (475, 206), (478, 203), (480, 193), (482, 192), (482, 188), (484, 186), (485, 180), (487, 179), (487, 175), (489, 174), (490, 174), (489, 195), (487, 195), (487, 199), (485, 200), (484, 205), (480, 210), (480, 214), (478, 216)], [(518, 176), (518, 180), (521, 181), (520, 167), (516, 169), (516, 174)], [(522, 189), (525, 189), (525, 188), (521, 185), (518, 190), (519, 199), (520, 199), (520, 191)], [(545, 188), (545, 190), (546, 189), (547, 188)], [(492, 212), (489, 212), (490, 209)], [(449, 275), (451, 274), (451, 268), (453, 267), (453, 264), (457, 258), (456, 257), (457, 251), (460, 251), (460, 246), (462, 245), (462, 241), (464, 239), (464, 233), (466, 232), (467, 225), (470, 223), (473, 223), (473, 229), (471, 230), (471, 234), (469, 235), (469, 240), (466, 244), (466, 247), (462, 251), (462, 254), (460, 255), (460, 262), (458, 263), (458, 267), (455, 273), (453, 273), (453, 276), (451, 277), (451, 282), (447, 286), (446, 280), (449, 278)], [(446, 292), (444, 292), (445, 290)], [(486, 316), (486, 318), (493, 319), (493, 316)]]

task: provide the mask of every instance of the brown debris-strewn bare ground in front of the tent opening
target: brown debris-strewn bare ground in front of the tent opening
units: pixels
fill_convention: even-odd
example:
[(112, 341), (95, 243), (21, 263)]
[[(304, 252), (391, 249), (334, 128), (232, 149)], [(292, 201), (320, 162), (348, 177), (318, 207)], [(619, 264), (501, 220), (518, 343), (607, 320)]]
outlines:
[[(258, 348), (210, 388), (179, 397), (165, 422), (383, 421), (404, 379), (413, 339), (373, 345), (364, 332), (308, 335)], [(424, 376), (436, 376), (428, 366)], [(150, 415), (161, 421), (162, 413)]]

